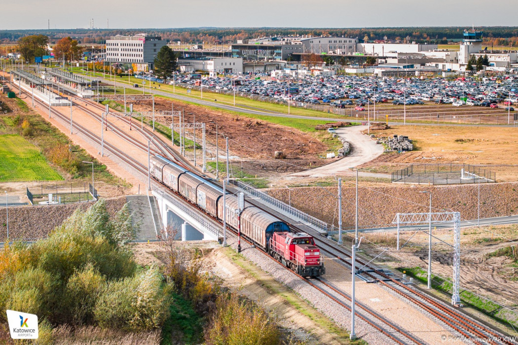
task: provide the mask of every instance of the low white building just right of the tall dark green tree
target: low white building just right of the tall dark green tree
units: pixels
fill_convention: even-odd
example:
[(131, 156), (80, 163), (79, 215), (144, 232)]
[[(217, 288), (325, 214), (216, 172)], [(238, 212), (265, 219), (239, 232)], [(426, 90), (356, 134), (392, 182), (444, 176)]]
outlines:
[(179, 58), (178, 66), (182, 72), (207, 71), (215, 73), (242, 73), (241, 57), (198, 57)]

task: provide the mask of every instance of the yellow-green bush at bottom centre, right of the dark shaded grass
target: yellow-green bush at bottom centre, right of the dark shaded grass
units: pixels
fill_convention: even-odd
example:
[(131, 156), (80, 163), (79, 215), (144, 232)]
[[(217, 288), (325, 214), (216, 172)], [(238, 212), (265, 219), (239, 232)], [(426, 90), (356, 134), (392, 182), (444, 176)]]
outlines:
[(216, 311), (205, 329), (205, 341), (209, 345), (278, 344), (280, 336), (270, 315), (241, 300), (236, 293), (218, 296)]

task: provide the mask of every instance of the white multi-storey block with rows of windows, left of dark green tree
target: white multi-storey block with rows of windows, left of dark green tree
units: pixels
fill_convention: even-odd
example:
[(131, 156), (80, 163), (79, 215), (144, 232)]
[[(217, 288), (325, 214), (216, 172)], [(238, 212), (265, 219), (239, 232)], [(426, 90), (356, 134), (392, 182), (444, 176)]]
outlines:
[(138, 34), (134, 36), (111, 36), (106, 40), (106, 61), (125, 64), (147, 64), (150, 69), (156, 54), (166, 41), (160, 36)]

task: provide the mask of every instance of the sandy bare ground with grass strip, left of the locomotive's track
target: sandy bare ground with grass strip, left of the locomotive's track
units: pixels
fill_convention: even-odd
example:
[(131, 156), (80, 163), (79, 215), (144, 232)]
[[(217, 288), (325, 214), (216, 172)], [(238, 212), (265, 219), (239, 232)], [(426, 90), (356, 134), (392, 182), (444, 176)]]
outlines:
[[(202, 250), (205, 258), (203, 271), (219, 277), (223, 286), (239, 291), (273, 312), (278, 317), (279, 324), (297, 339), (306, 340), (305, 343), (308, 345), (349, 343), (345, 332), (330, 332), (325, 326), (329, 321), (320, 312), (307, 305), (260, 268), (238, 256), (232, 249), (222, 248), (215, 242), (208, 241), (190, 242), (186, 246)], [(161, 264), (155, 256), (156, 252), (162, 250), (159, 243), (140, 243), (133, 249), (139, 264)], [(298, 299), (295, 301), (296, 304), (288, 302), (293, 302), (294, 298)], [(309, 311), (310, 315), (301, 310)]]

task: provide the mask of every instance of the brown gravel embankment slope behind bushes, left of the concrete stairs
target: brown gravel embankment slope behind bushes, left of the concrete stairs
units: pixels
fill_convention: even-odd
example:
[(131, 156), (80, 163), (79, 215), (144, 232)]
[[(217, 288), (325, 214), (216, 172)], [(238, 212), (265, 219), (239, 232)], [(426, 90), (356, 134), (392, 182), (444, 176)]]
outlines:
[[(106, 208), (110, 215), (116, 214), (125, 197), (107, 199)], [(87, 209), (92, 203), (70, 203), (65, 205), (35, 205), (9, 207), (9, 237), (11, 239), (40, 239), (48, 236), (60, 226), (76, 209)], [(7, 237), (6, 208), (0, 208), (0, 241)]]

